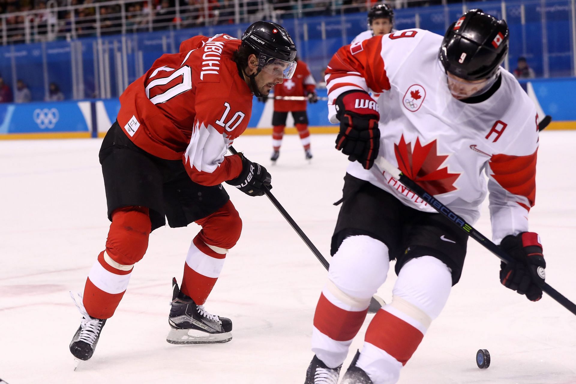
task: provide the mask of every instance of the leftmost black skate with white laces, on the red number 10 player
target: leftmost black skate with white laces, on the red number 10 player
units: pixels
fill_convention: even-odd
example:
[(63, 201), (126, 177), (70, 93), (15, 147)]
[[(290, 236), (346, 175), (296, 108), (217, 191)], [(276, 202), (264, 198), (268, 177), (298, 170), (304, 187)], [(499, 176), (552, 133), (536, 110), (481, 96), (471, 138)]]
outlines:
[(88, 360), (92, 357), (94, 349), (96, 349), (96, 344), (98, 344), (98, 339), (100, 339), (100, 332), (102, 332), (102, 328), (106, 323), (106, 319), (90, 317), (84, 308), (84, 303), (82, 303), (82, 295), (77, 295), (79, 301), (75, 299), (72, 292), (70, 292), (70, 296), (72, 296), (76, 307), (82, 314), (82, 322), (74, 334), (72, 341), (70, 341), (70, 352), (77, 359), (74, 370), (78, 367), (80, 363), (79, 360)]

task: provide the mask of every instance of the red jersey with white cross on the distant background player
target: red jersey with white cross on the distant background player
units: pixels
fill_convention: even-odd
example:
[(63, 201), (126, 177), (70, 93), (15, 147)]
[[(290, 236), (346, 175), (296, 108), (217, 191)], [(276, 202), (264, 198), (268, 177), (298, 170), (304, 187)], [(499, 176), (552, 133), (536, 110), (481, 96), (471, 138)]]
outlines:
[[(316, 90), (316, 82), (302, 60), (298, 60), (291, 79), (284, 79), (274, 87), (274, 96), (308, 96)], [(274, 100), (274, 111), (306, 111), (306, 100)]]

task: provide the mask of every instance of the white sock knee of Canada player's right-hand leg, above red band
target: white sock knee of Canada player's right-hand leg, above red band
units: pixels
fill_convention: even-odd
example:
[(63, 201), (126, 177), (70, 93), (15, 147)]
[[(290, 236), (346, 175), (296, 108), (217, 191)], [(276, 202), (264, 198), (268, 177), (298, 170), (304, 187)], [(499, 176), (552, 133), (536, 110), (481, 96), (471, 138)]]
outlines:
[(386, 310), (402, 320), (406, 315), (416, 320), (421, 325), (416, 328), (426, 333), (446, 305), (451, 288), (452, 273), (446, 264), (432, 256), (413, 258), (400, 269), (392, 290), (392, 308)]

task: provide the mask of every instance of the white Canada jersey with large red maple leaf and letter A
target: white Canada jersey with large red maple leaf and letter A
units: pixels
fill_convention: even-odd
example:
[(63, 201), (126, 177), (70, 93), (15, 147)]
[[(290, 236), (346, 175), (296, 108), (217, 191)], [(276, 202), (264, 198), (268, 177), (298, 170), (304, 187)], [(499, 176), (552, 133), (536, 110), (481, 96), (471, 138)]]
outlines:
[[(536, 193), (536, 108), (517, 80), (501, 71), (487, 100), (456, 100), (438, 60), (442, 36), (422, 29), (346, 45), (328, 64), (328, 117), (348, 90), (380, 93), (383, 156), (470, 223), (490, 191), (492, 237), (528, 230)], [(347, 172), (392, 193), (406, 206), (436, 212), (377, 166), (351, 162)], [(486, 173), (488, 183), (486, 183)]]

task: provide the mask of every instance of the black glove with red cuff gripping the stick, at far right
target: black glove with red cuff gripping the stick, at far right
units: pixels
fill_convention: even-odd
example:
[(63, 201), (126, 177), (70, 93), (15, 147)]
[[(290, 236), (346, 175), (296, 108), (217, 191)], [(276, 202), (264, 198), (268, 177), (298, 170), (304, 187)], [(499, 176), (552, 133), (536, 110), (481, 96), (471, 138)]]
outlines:
[(514, 263), (500, 265), (500, 282), (531, 301), (542, 298), (546, 262), (542, 254), (540, 236), (533, 232), (507, 235), (500, 248), (514, 258)]

